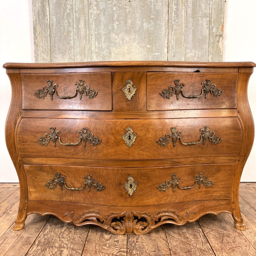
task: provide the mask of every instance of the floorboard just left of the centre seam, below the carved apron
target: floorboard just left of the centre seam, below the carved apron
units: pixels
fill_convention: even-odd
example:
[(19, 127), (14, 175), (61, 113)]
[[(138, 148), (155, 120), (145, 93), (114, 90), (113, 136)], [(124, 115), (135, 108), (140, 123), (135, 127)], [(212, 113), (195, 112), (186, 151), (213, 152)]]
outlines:
[(126, 256), (127, 236), (118, 236), (91, 226), (81, 256)]

